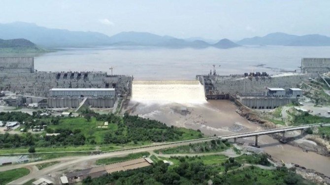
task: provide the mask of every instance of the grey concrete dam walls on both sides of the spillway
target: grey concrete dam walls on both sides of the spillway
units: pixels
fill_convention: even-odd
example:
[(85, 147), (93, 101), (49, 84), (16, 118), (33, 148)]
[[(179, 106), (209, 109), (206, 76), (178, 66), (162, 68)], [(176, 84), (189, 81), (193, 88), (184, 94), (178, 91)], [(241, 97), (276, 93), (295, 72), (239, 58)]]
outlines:
[[(299, 84), (329, 69), (330, 58), (302, 58), (295, 73), (221, 76), (213, 65), (213, 72), (196, 78), (204, 87), (206, 100), (231, 99), (249, 108), (273, 109), (297, 101), (302, 97)], [(121, 106), (130, 100), (132, 80), (132, 76), (106, 72), (38, 72), (33, 57), (0, 57), (0, 91), (9, 106), (116, 109), (118, 103)], [(5, 96), (4, 92), (14, 94)]]

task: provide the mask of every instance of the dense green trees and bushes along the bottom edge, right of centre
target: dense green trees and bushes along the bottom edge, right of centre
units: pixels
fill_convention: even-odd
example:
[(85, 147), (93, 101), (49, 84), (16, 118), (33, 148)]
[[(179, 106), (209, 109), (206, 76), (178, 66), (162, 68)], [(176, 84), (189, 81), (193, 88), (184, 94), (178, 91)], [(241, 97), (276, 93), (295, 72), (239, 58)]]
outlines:
[[(263, 158), (262, 155), (260, 155)], [(151, 157), (156, 158), (155, 156)], [(218, 160), (216, 160), (218, 158)], [(295, 169), (280, 167), (276, 170), (265, 170), (256, 166), (243, 167), (237, 158), (223, 155), (203, 157), (171, 157), (174, 165), (169, 166), (162, 160), (154, 159), (152, 166), (115, 172), (96, 179), (88, 178), (83, 184), (116, 184), (116, 185), (200, 185), (208, 184), (310, 184), (295, 173)], [(223, 161), (223, 162), (219, 162)]]

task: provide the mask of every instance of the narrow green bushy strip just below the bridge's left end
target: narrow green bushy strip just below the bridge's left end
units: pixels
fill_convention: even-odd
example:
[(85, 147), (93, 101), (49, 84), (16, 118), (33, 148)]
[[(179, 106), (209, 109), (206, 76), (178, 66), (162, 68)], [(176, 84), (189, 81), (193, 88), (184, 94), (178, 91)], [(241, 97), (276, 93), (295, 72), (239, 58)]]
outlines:
[(197, 154), (205, 152), (222, 152), (230, 147), (230, 143), (221, 141), (220, 139), (205, 141), (203, 143), (194, 143), (189, 145), (157, 150), (155, 153), (162, 154)]

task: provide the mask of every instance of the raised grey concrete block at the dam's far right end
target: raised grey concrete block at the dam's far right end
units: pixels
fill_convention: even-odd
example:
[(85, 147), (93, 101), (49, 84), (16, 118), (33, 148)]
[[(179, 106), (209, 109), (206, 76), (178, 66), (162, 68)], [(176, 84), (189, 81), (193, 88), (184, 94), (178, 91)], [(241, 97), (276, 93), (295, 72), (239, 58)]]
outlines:
[(330, 58), (302, 58), (301, 73), (326, 73), (330, 71)]

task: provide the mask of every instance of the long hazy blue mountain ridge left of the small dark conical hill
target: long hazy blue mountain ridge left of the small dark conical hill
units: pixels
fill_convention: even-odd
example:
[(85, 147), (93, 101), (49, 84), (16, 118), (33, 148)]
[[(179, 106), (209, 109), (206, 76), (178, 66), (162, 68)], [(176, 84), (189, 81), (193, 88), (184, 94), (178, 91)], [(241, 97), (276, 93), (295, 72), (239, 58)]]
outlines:
[(216, 48), (228, 49), (238, 46), (230, 43), (231, 41), (211, 45), (203, 40), (178, 39), (148, 32), (130, 31), (107, 36), (98, 32), (53, 29), (22, 22), (0, 24), (0, 38), (25, 38), (43, 47), (153, 46), (174, 49), (199, 49), (214, 46)]

